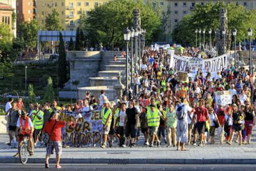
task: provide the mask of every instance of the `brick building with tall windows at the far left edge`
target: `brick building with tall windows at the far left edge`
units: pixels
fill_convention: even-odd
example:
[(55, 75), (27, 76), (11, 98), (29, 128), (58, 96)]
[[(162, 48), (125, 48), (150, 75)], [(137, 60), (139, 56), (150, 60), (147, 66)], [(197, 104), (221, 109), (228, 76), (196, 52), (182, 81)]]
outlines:
[(12, 12), (14, 9), (9, 4), (0, 2), (0, 23), (9, 25), (10, 31), (12, 31)]

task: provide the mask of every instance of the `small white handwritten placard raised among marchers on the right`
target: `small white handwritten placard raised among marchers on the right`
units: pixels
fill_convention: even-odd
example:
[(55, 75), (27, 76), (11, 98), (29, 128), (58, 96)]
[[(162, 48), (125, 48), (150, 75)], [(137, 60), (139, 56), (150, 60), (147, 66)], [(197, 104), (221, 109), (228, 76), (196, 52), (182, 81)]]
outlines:
[(232, 96), (230, 91), (216, 91), (215, 101), (217, 105), (227, 106), (232, 104)]

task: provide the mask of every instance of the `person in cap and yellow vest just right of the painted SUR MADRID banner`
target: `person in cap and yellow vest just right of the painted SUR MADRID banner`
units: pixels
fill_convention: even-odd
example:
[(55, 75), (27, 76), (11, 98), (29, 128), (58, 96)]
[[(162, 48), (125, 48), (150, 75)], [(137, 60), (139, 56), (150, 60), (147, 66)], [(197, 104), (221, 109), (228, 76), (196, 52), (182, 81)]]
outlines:
[(110, 131), (111, 121), (112, 121), (112, 111), (110, 109), (110, 102), (108, 99), (105, 99), (103, 102), (103, 109), (101, 111), (102, 114), (102, 124), (103, 124), (103, 143), (101, 145), (101, 148), (106, 148), (106, 142), (108, 140), (108, 133)]

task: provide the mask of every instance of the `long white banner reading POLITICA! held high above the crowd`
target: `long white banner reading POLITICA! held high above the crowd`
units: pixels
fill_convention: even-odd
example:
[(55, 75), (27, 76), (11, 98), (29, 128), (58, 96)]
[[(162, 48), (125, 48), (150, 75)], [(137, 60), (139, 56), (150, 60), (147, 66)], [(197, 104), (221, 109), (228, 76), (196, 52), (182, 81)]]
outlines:
[(228, 67), (228, 56), (224, 54), (211, 59), (200, 59), (180, 57), (174, 54), (174, 56), (171, 56), (170, 67), (183, 72), (193, 72), (198, 69), (202, 69), (205, 72), (207, 72), (208, 69), (210, 69), (210, 72), (218, 72)]

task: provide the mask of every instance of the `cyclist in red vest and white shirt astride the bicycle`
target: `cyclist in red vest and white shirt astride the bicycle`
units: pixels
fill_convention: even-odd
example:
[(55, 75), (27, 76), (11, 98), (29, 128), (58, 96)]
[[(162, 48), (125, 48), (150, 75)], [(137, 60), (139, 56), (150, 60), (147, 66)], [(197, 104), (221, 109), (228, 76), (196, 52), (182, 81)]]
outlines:
[[(18, 134), (18, 132), (20, 133)], [(19, 136), (19, 148), (17, 154), (14, 155), (14, 157), (19, 156), (19, 150), (20, 146), (22, 144), (24, 136), (29, 137), (30, 141), (30, 156), (34, 154), (34, 144), (33, 144), (33, 123), (30, 119), (30, 117), (27, 117), (27, 112), (22, 111), (22, 114), (20, 115), (19, 119), (17, 120), (16, 130), (15, 130), (15, 136)], [(18, 141), (18, 140), (17, 140)]]

